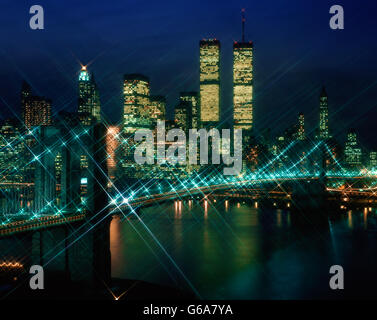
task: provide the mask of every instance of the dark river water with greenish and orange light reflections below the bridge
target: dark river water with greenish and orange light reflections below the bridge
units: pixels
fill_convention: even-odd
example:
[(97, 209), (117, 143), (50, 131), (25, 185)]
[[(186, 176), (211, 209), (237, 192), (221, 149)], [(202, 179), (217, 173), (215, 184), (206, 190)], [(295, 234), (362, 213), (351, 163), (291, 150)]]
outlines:
[[(113, 277), (194, 288), (213, 299), (375, 296), (366, 288), (377, 278), (375, 209), (309, 230), (293, 213), (257, 202), (175, 201), (144, 209), (141, 218), (145, 225), (112, 221)], [(345, 268), (348, 291), (329, 290), (333, 264)]]

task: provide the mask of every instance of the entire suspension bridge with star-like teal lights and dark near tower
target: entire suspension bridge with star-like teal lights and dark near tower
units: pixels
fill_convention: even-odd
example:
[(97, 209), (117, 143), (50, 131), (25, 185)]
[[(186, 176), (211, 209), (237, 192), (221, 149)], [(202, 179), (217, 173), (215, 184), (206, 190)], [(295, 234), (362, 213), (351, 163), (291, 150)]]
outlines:
[[(39, 264), (72, 281), (94, 285), (100, 279), (107, 283), (111, 279), (112, 217), (142, 221), (143, 208), (163, 202), (196, 201), (208, 206), (242, 199), (255, 206), (292, 210), (295, 215), (322, 216), (377, 203), (376, 172), (349, 172), (341, 167), (328, 171), (325, 164), (305, 172), (292, 163), (273, 172), (266, 165), (239, 176), (208, 170), (186, 179), (118, 184), (108, 174), (105, 131), (102, 124), (84, 131), (79, 127), (38, 128), (31, 149), (35, 182), (0, 183), (1, 267), (27, 270)], [(326, 149), (325, 142), (319, 142), (308, 154), (323, 155)], [(62, 157), (60, 181), (53, 173), (58, 153)], [(85, 177), (80, 171), (83, 155), (87, 159)], [(15, 246), (22, 248), (18, 255), (13, 253)]]

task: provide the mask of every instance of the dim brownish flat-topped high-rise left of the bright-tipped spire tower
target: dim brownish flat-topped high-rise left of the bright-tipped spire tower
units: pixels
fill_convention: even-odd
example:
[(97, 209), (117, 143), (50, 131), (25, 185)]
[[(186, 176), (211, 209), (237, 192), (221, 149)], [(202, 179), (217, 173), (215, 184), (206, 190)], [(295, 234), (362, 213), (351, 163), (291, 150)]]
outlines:
[(51, 100), (29, 95), (24, 100), (23, 117), (28, 129), (34, 126), (50, 126), (52, 124)]

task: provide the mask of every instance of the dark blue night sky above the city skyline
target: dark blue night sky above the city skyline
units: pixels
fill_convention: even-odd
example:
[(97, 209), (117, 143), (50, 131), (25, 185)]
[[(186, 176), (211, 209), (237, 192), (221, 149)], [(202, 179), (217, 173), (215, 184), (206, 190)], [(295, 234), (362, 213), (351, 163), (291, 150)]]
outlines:
[[(53, 111), (77, 107), (80, 62), (90, 63), (102, 108), (118, 120), (124, 73), (151, 79), (152, 94), (170, 109), (179, 91), (198, 89), (199, 40), (222, 45), (224, 117), (231, 107), (232, 41), (255, 46), (255, 121), (275, 132), (305, 113), (318, 118), (325, 84), (334, 134), (355, 127), (365, 146), (377, 149), (377, 1), (0, 1), (1, 116), (19, 113), (22, 78), (53, 100)], [(45, 30), (29, 28), (29, 8), (45, 10)], [(341, 4), (345, 29), (329, 28), (329, 8)], [(340, 135), (342, 138), (344, 134)]]

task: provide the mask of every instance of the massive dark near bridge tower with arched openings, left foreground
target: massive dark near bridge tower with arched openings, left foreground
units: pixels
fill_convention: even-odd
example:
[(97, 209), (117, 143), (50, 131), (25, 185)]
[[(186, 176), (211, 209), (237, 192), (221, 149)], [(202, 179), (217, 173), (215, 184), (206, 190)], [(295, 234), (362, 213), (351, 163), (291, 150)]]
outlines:
[[(35, 203), (46, 213), (86, 214), (83, 222), (37, 232), (33, 236), (34, 263), (46, 273), (65, 273), (74, 282), (90, 286), (109, 283), (111, 279), (110, 222), (107, 205), (106, 129), (59, 124), (40, 129), (36, 154)], [(54, 159), (62, 155), (60, 203), (56, 203)], [(82, 168), (82, 159), (86, 159)], [(85, 177), (83, 177), (85, 175)], [(84, 181), (84, 182), (83, 182)], [(83, 201), (85, 188), (85, 201)]]

